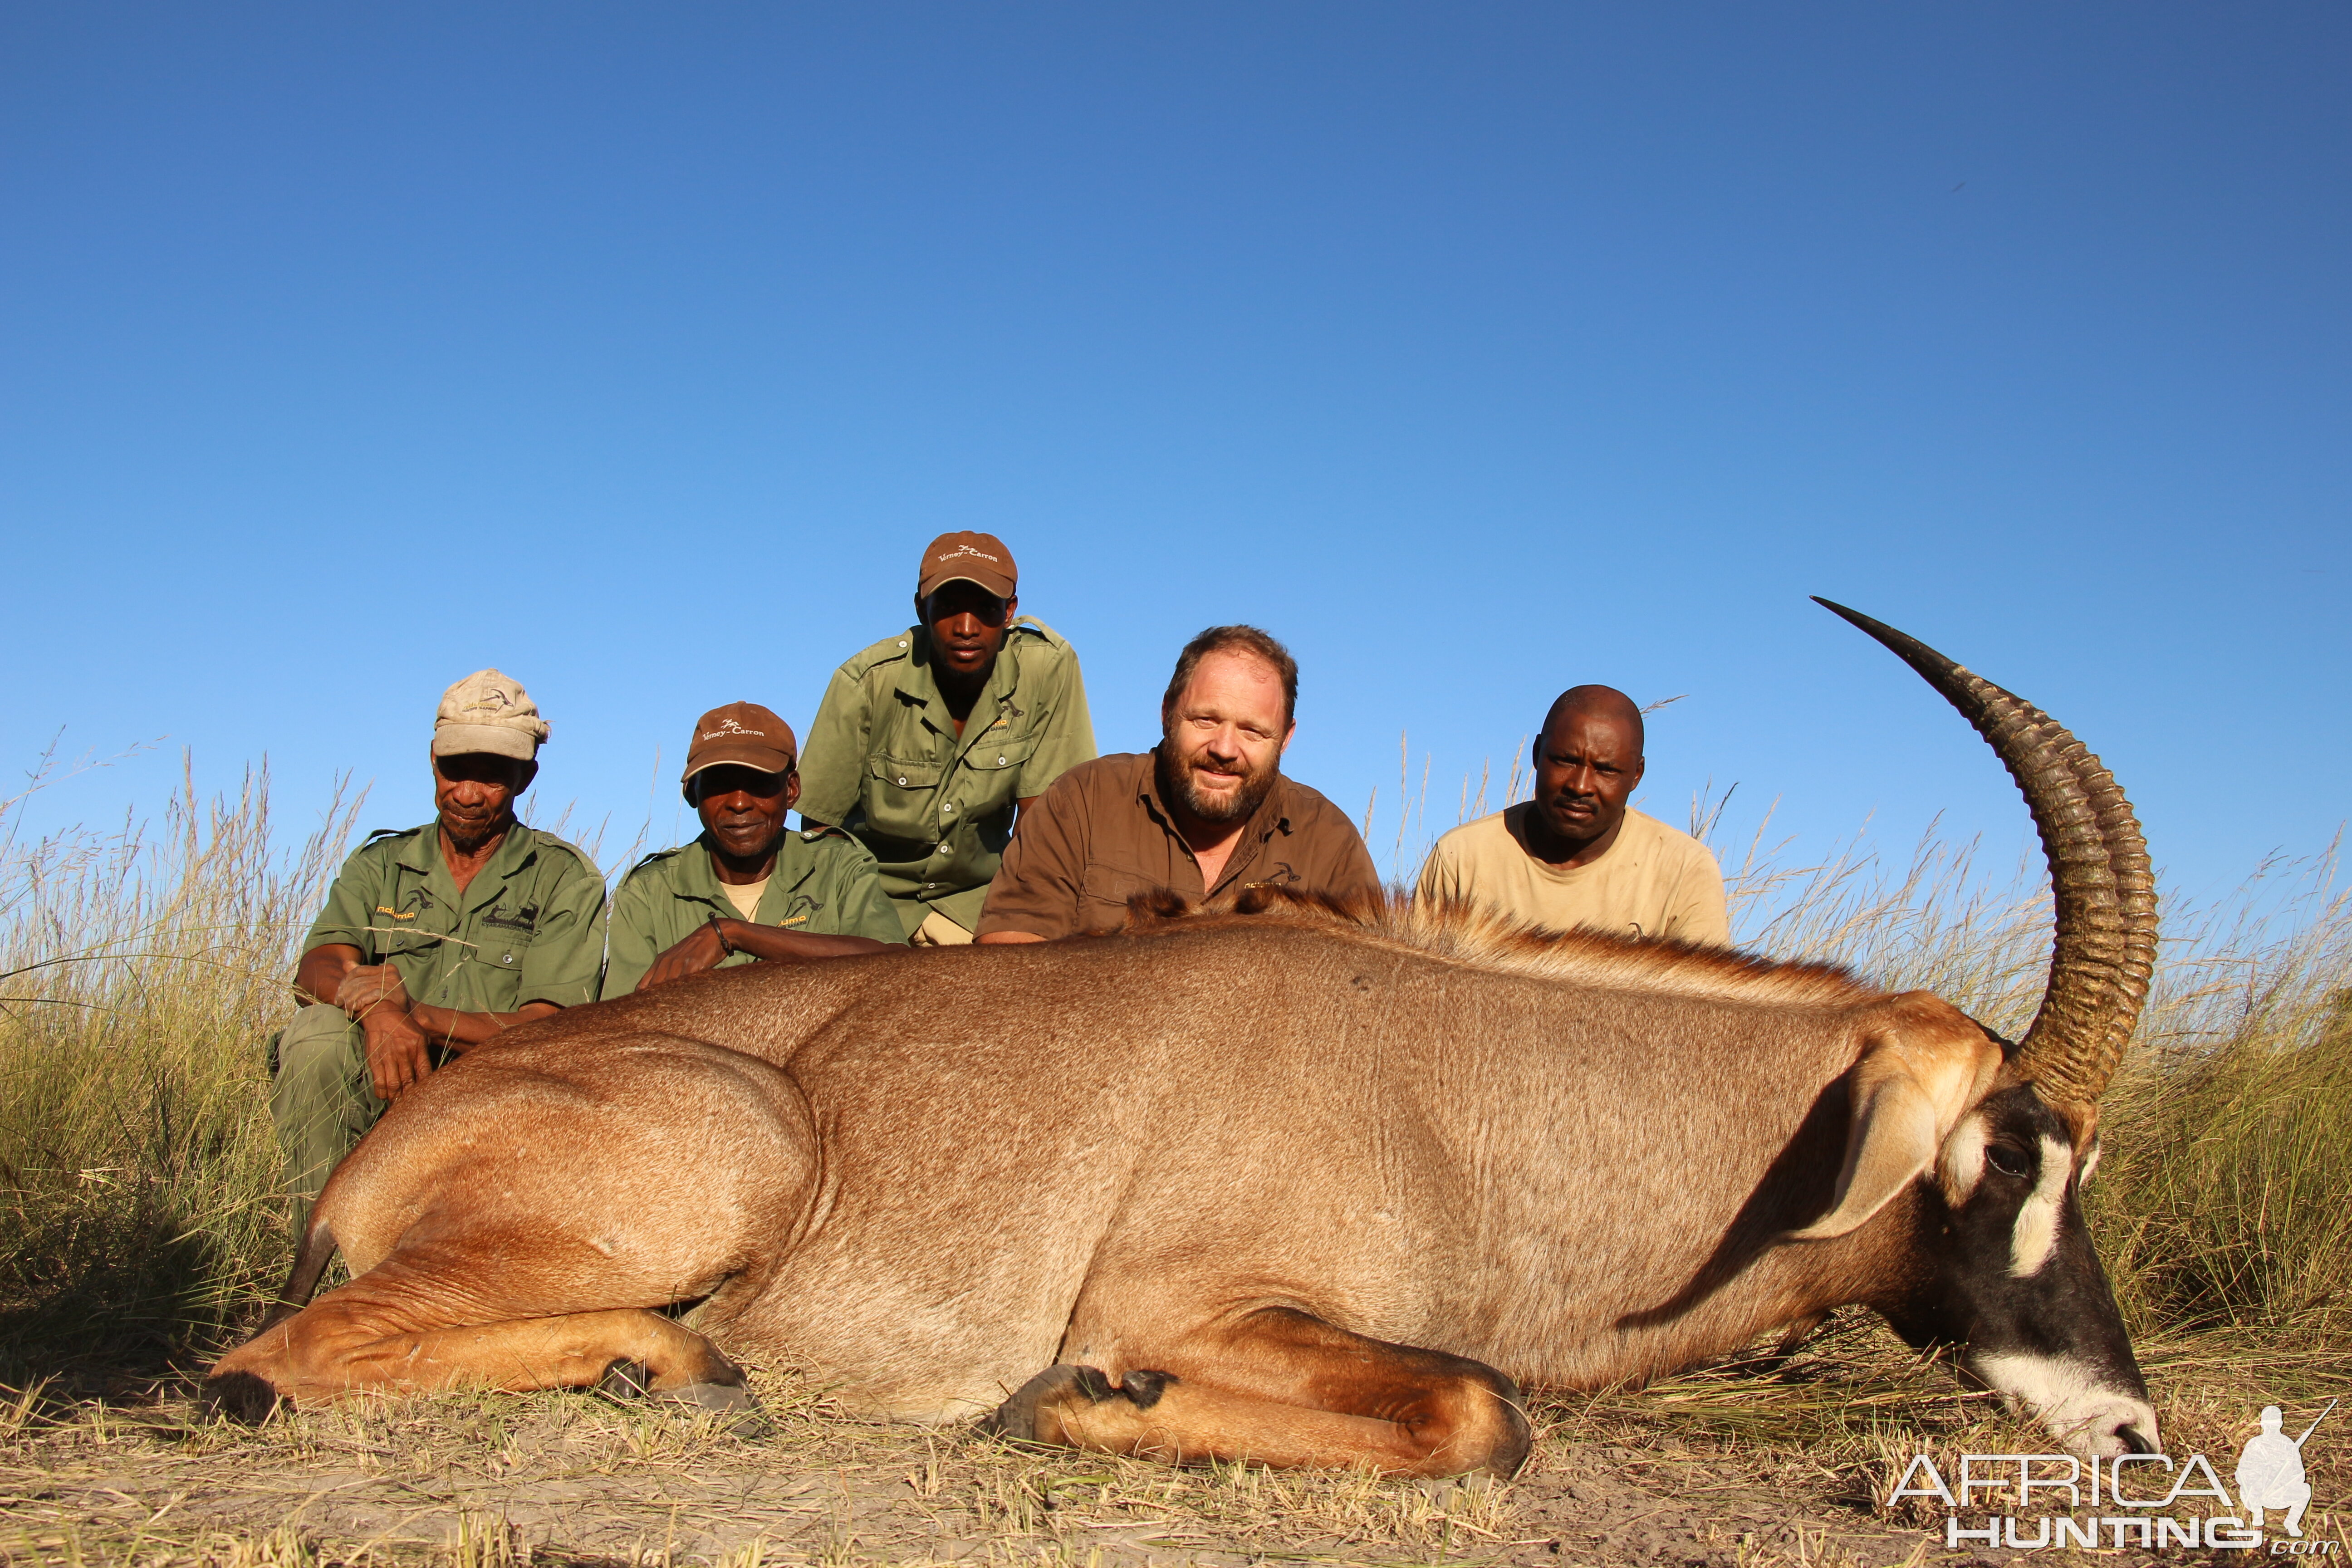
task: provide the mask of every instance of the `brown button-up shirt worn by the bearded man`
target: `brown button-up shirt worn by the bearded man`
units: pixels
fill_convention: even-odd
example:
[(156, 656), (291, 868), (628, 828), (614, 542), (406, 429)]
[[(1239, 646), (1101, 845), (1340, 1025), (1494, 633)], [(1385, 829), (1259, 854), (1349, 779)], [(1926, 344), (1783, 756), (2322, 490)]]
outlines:
[(1004, 870), (988, 889), (981, 936), (1115, 931), (1134, 893), (1171, 889), (1190, 900), (1272, 884), (1336, 898), (1376, 898), (1381, 872), (1348, 813), (1291, 778), (1277, 778), (1242, 827), (1216, 886), (1160, 799), (1160, 752), (1075, 766), (1021, 818)]

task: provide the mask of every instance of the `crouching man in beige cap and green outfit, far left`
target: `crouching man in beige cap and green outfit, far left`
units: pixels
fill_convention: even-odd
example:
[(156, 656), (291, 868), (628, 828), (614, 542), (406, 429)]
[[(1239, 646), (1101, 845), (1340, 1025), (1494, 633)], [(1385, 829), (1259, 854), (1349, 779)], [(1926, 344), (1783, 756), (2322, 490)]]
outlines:
[(515, 820), (546, 738), (515, 679), (477, 670), (449, 686), (433, 717), (435, 818), (369, 835), (327, 891), (294, 971), (301, 1011), (270, 1053), (301, 1208), (435, 1060), (595, 1001), (604, 877)]

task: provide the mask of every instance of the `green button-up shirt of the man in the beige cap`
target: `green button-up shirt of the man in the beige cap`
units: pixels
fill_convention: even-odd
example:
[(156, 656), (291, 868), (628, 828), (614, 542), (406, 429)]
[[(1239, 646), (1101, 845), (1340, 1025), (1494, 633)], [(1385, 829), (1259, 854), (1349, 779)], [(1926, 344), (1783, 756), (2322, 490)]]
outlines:
[(604, 964), (604, 877), (572, 844), (515, 823), (459, 893), (437, 823), (381, 830), (343, 860), (303, 952), (327, 943), (390, 964), (426, 1006), (579, 1006), (595, 1001)]

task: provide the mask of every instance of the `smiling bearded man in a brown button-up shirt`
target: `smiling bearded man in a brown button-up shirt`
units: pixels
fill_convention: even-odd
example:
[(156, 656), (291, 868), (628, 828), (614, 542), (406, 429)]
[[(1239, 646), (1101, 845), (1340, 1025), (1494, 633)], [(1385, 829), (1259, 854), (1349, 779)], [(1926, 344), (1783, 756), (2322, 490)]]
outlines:
[(1298, 661), (1265, 632), (1211, 625), (1188, 642), (1160, 701), (1160, 745), (1082, 762), (1021, 813), (978, 940), (1110, 931), (1129, 896), (1152, 889), (1378, 898), (1355, 823), (1282, 776), (1296, 705)]

